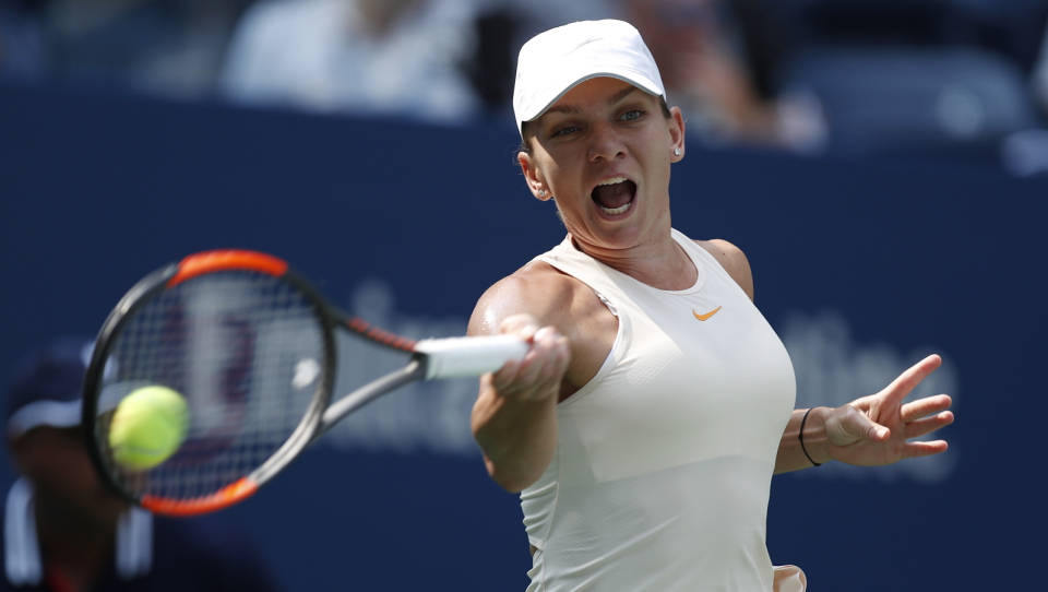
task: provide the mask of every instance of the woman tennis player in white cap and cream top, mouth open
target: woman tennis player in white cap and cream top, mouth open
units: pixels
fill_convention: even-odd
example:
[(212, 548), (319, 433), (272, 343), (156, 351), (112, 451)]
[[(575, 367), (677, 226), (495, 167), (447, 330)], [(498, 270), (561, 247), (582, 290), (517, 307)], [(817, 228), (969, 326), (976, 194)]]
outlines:
[(794, 410), (795, 379), (752, 304), (749, 263), (670, 224), (684, 121), (636, 29), (574, 23), (521, 49), (520, 165), (555, 200), (564, 241), (480, 298), (472, 334), (531, 342), (481, 378), (473, 429), (491, 476), (521, 492), (529, 591), (801, 591), (765, 546), (772, 475), (934, 454), (950, 398), (881, 392)]

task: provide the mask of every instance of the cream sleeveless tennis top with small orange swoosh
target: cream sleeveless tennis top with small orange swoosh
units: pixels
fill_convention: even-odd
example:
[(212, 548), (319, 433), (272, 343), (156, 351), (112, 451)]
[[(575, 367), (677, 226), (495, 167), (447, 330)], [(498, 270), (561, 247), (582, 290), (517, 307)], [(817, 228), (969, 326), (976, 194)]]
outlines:
[(528, 592), (805, 589), (764, 542), (789, 356), (717, 260), (672, 237), (699, 271), (682, 291), (618, 272), (570, 235), (535, 258), (592, 287), (619, 328), (597, 375), (558, 405), (557, 452), (521, 493), (537, 548)]

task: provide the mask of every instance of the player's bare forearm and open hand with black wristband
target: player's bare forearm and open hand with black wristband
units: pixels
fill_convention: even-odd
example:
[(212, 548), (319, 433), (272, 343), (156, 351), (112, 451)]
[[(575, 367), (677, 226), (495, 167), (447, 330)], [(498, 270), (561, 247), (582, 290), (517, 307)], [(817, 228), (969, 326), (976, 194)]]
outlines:
[(775, 473), (830, 461), (862, 466), (892, 464), (945, 451), (945, 440), (909, 440), (953, 423), (953, 412), (948, 411), (952, 403), (950, 395), (937, 394), (903, 403), (903, 399), (940, 364), (939, 356), (928, 356), (881, 392), (841, 407), (814, 407), (810, 413), (809, 410), (795, 410), (778, 445)]

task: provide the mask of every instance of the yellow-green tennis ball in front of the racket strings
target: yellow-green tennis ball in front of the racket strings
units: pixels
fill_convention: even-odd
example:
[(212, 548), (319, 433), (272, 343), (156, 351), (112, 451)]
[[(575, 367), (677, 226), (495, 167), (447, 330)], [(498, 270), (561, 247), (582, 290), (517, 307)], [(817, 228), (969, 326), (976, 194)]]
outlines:
[(186, 438), (189, 407), (177, 391), (143, 387), (120, 401), (109, 424), (112, 458), (129, 469), (152, 469), (170, 458)]

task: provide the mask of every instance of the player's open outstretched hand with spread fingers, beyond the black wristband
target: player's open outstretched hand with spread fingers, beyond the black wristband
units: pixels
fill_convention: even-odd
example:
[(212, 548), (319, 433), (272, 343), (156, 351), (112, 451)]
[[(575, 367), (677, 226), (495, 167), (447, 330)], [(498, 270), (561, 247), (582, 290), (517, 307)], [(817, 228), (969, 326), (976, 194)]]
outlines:
[(903, 404), (903, 399), (940, 364), (939, 356), (928, 356), (881, 392), (832, 410), (825, 418), (829, 457), (872, 466), (945, 451), (945, 440), (908, 440), (953, 423), (953, 413), (946, 411), (952, 403), (950, 396), (937, 394)]

